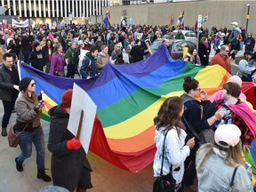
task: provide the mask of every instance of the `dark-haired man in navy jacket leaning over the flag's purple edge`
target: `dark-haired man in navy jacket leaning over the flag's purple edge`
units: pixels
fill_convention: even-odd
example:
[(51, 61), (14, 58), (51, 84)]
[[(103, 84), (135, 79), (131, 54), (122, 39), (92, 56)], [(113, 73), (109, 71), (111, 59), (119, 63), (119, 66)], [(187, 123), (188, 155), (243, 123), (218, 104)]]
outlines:
[(82, 78), (90, 79), (92, 76), (97, 76), (98, 71), (96, 68), (98, 56), (98, 48), (92, 46), (90, 52), (85, 54), (82, 66), (80, 68), (80, 75)]

